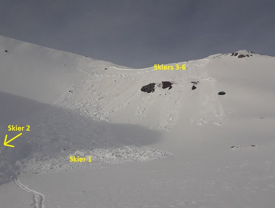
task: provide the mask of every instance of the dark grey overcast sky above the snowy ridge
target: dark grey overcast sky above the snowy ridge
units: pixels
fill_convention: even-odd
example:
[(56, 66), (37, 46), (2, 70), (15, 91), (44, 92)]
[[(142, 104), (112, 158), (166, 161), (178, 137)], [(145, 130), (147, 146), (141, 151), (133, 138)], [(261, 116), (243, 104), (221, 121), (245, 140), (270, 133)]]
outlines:
[(133, 68), (275, 55), (275, 1), (0, 0), (0, 35)]

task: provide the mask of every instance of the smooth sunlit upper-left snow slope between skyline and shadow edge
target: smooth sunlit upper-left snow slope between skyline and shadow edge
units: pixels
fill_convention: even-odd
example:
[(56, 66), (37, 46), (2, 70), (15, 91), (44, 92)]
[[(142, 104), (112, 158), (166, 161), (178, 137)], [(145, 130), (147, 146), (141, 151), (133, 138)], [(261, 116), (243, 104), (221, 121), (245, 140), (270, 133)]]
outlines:
[(84, 60), (80, 55), (0, 36), (0, 89), (52, 104), (68, 87), (85, 77), (75, 70)]

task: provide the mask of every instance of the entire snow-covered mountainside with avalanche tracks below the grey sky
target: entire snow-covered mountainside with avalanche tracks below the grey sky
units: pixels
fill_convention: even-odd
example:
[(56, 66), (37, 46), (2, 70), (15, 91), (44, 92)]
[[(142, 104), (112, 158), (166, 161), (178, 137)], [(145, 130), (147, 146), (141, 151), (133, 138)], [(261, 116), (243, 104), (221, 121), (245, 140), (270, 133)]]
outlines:
[(0, 146), (0, 207), (273, 208), (275, 57), (156, 64), (0, 36), (1, 137), (19, 133), (8, 125), (31, 129)]

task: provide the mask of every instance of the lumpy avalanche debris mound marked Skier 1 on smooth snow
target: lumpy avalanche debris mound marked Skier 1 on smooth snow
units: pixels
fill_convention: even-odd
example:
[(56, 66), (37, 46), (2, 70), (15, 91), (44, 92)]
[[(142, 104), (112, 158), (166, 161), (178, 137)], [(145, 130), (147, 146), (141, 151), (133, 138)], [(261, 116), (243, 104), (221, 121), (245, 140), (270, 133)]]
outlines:
[[(63, 153), (65, 154), (65, 150)], [(36, 154), (38, 155), (38, 154)], [(77, 150), (68, 156), (45, 156), (37, 159), (24, 159), (17, 161), (16, 165), (20, 167), (19, 174), (26, 173), (54, 173), (79, 168), (90, 168), (108, 164), (119, 164), (125, 162), (141, 162), (149, 160), (167, 159), (173, 157), (173, 154), (149, 149), (143, 146), (129, 145), (116, 148), (95, 148), (93, 150)], [(83, 162), (73, 162), (73, 159), (85, 158)], [(72, 162), (68, 162), (72, 161)]]

